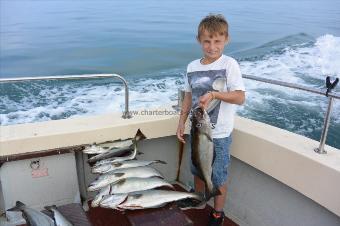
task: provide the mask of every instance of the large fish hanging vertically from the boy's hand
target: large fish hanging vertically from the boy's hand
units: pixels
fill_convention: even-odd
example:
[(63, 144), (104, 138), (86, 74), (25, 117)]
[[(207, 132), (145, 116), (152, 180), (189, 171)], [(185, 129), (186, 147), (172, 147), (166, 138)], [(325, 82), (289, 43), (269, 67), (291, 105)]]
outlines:
[(205, 198), (209, 200), (221, 192), (212, 183), (214, 144), (209, 115), (201, 107), (196, 107), (192, 112), (191, 134), (191, 160), (205, 183)]

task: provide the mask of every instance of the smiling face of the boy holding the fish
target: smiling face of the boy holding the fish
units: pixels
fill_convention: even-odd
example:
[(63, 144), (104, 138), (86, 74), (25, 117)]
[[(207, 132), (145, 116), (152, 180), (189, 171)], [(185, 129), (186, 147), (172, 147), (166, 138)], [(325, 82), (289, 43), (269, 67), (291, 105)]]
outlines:
[(211, 34), (208, 31), (204, 31), (200, 37), (198, 37), (198, 41), (202, 46), (204, 58), (213, 62), (222, 55), (228, 38), (219, 33)]

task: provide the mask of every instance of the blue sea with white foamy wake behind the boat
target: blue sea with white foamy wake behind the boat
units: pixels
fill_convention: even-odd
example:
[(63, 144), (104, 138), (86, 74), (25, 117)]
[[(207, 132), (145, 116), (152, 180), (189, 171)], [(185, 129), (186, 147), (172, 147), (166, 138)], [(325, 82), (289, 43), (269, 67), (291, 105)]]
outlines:
[[(132, 110), (174, 104), (186, 65), (201, 57), (197, 25), (208, 13), (227, 18), (225, 54), (243, 74), (323, 90), (326, 76), (340, 77), (337, 0), (0, 0), (0, 77), (118, 73), (129, 83)], [(320, 139), (326, 97), (245, 84), (239, 115)], [(0, 84), (1, 125), (123, 109), (115, 79)], [(340, 148), (340, 100), (327, 144)]]

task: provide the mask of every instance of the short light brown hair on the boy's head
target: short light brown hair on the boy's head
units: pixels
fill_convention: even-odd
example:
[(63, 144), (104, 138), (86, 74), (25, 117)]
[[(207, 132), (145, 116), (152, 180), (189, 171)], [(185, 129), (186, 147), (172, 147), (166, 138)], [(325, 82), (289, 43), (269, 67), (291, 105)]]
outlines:
[(228, 38), (228, 22), (222, 14), (209, 14), (204, 17), (198, 25), (198, 39), (204, 31), (209, 32), (211, 35), (225, 35), (225, 37)]

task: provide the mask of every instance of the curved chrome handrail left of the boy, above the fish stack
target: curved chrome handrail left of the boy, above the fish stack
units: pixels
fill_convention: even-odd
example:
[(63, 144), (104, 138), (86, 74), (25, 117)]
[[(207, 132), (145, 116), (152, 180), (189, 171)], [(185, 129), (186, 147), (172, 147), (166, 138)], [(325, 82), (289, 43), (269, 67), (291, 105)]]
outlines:
[(42, 76), (42, 77), (19, 77), (19, 78), (0, 78), (0, 83), (7, 82), (23, 82), (34, 80), (71, 80), (71, 79), (84, 79), (84, 78), (118, 78), (122, 80), (125, 86), (125, 111), (122, 118), (132, 118), (129, 112), (129, 87), (127, 81), (118, 74), (100, 74), (100, 75), (65, 75), (65, 76)]

